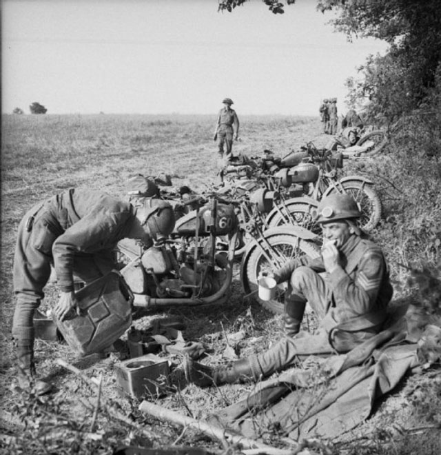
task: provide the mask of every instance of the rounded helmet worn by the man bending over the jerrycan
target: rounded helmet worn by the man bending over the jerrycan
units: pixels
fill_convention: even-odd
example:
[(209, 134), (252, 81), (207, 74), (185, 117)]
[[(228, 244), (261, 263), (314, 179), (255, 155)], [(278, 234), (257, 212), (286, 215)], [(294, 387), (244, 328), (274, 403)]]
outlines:
[(143, 207), (136, 208), (136, 218), (153, 239), (166, 237), (174, 230), (172, 205), (162, 199), (145, 199)]

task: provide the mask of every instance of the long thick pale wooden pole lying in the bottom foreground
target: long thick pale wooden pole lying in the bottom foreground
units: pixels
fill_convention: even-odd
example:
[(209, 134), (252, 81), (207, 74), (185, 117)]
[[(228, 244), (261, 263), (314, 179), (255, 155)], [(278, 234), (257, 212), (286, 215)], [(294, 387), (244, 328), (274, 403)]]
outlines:
[[(262, 449), (264, 449), (265, 454), (269, 455), (292, 455), (295, 453), (294, 449), (274, 449), (273, 447), (259, 443), (254, 439), (249, 439), (245, 438), (245, 436), (229, 433), (225, 431), (225, 429), (214, 427), (213, 425), (209, 425), (209, 423), (206, 422), (198, 421), (196, 418), (183, 416), (178, 412), (167, 410), (165, 407), (155, 405), (149, 401), (144, 400), (141, 405), (139, 405), (139, 410), (145, 412), (145, 414), (150, 414), (151, 416), (156, 417), (160, 421), (169, 421), (171, 423), (176, 423), (177, 425), (190, 427), (209, 436), (210, 438), (216, 439), (217, 441), (227, 441), (233, 445), (242, 445), (242, 447), (245, 449), (260, 449), (260, 453), (262, 453)], [(256, 454), (259, 452), (252, 453)]]

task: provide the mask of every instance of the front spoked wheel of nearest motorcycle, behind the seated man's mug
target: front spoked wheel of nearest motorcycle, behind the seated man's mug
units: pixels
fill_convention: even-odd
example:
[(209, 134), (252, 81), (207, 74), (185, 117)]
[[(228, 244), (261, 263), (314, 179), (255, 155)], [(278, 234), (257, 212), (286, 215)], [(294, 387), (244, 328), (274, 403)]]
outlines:
[[(266, 237), (267, 241), (279, 254), (286, 259), (309, 256), (315, 259), (320, 256), (320, 247), (311, 241), (298, 239), (294, 234), (270, 234)], [(240, 267), (240, 279), (242, 281), (245, 294), (253, 293), (254, 299), (267, 310), (274, 314), (283, 314), (286, 283), (278, 285), (276, 296), (273, 300), (264, 301), (258, 296), (257, 277), (260, 272), (273, 271), (274, 267), (267, 261), (265, 255), (258, 245), (253, 245), (244, 256)]]

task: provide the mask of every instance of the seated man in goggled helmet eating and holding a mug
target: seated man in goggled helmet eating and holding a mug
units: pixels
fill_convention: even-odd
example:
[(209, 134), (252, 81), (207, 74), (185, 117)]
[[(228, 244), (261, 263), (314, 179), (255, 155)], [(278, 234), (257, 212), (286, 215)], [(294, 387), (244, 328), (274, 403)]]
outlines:
[[(266, 352), (225, 367), (186, 359), (187, 379), (201, 387), (246, 378), (256, 381), (294, 366), (298, 355), (349, 352), (378, 334), (393, 290), (382, 250), (356, 225), (360, 216), (356, 201), (347, 194), (322, 199), (317, 219), (323, 230), (321, 256), (293, 259), (272, 274), (277, 283), (288, 282), (287, 336)], [(320, 319), (314, 334), (299, 332), (307, 302)]]

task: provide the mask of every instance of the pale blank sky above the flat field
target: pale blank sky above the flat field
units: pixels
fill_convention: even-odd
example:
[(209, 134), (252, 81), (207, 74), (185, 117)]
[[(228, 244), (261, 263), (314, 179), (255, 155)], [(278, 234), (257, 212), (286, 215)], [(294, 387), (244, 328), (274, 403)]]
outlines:
[(317, 114), (375, 40), (347, 42), (316, 0), (275, 15), (260, 0), (3, 0), (2, 112)]

